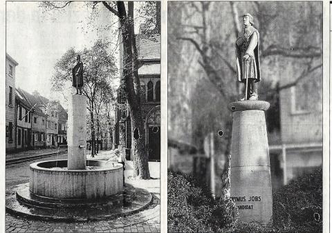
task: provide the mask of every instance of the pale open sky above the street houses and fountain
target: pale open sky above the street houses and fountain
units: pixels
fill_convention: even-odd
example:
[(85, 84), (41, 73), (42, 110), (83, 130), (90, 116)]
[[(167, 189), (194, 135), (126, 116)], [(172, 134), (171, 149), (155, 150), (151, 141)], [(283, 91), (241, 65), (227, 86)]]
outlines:
[[(69, 48), (90, 48), (97, 39), (113, 39), (115, 43), (118, 40), (111, 30), (93, 29), (111, 23), (117, 25), (116, 17), (104, 6), (99, 8), (99, 15), (91, 26), (91, 10), (84, 2), (71, 3), (61, 11), (45, 12), (38, 1), (7, 1), (6, 52), (19, 63), (16, 88), (30, 93), (37, 90), (48, 99), (59, 99), (64, 103), (62, 94), (50, 91), (56, 61)], [(135, 30), (137, 33), (137, 25)], [(110, 48), (110, 53), (113, 52), (118, 57), (118, 48)]]

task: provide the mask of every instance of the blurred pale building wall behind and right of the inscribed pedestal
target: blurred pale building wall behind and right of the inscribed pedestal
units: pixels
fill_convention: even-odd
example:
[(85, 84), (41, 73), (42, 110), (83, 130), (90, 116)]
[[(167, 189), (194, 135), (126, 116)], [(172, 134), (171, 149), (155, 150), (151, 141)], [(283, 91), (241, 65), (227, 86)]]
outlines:
[(280, 92), (282, 145), (278, 159), (284, 184), (322, 166), (322, 106), (322, 68)]

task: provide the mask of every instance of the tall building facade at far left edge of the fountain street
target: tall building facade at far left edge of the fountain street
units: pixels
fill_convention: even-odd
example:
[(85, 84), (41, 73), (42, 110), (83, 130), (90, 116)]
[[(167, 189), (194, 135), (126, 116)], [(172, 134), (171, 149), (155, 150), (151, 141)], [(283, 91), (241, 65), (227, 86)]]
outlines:
[(15, 150), (15, 71), (17, 61), (6, 53), (6, 152)]

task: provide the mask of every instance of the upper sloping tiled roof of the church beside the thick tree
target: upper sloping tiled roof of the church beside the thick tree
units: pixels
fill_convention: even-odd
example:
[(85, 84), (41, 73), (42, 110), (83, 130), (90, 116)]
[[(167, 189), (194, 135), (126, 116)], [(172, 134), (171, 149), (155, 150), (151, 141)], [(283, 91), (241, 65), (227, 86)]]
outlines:
[(136, 34), (139, 60), (160, 60), (160, 34)]

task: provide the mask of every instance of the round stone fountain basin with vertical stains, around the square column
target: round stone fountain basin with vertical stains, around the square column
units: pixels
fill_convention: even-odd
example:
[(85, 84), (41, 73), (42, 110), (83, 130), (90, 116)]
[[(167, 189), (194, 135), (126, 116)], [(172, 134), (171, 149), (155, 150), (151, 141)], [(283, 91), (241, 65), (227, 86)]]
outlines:
[(86, 160), (89, 170), (68, 170), (68, 161), (30, 164), (30, 192), (55, 199), (101, 199), (123, 190), (120, 163)]

